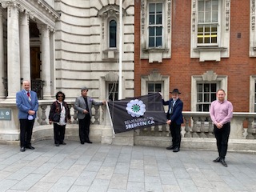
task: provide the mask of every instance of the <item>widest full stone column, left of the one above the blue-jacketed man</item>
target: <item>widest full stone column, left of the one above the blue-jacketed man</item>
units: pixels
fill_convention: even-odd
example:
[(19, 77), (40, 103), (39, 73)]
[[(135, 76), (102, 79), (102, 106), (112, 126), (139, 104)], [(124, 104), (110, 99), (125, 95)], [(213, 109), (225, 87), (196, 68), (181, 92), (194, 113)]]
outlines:
[(21, 89), (18, 5), (16, 2), (2, 2), (7, 8), (7, 98), (16, 98), (16, 92)]

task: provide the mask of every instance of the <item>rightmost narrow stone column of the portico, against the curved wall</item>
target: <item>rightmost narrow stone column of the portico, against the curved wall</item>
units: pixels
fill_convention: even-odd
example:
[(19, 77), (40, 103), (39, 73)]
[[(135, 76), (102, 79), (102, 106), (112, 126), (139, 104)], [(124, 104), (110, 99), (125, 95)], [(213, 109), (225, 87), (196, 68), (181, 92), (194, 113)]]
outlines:
[(55, 81), (55, 31), (50, 32), (50, 82), (51, 82), (51, 95), (55, 96), (56, 81)]

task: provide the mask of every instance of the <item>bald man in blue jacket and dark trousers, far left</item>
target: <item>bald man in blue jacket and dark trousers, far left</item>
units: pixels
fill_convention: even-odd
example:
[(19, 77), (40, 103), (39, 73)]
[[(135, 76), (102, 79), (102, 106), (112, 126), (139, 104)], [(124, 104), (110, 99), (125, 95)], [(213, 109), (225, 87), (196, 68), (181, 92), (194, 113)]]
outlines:
[(20, 123), (20, 145), (21, 151), (27, 149), (34, 150), (31, 146), (32, 130), (34, 126), (34, 118), (38, 111), (38, 96), (30, 90), (30, 82), (22, 82), (23, 90), (16, 94), (16, 105), (18, 106), (18, 118)]

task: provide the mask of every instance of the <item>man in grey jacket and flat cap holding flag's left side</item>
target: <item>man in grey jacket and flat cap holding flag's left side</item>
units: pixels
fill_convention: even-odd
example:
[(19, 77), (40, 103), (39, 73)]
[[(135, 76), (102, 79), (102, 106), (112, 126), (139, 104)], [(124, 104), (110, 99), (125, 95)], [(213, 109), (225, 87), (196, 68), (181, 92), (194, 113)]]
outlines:
[(79, 122), (79, 138), (83, 145), (85, 142), (90, 142), (90, 118), (92, 115), (91, 107), (106, 105), (106, 102), (95, 102), (93, 98), (87, 96), (87, 87), (82, 87), (81, 96), (75, 99), (74, 109), (78, 111), (78, 122)]

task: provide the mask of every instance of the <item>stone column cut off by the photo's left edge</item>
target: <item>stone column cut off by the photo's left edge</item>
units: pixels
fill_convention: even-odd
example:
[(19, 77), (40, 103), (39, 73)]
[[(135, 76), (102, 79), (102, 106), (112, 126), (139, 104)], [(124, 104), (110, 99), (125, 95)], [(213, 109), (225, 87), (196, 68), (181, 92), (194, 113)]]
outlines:
[(5, 77), (5, 61), (4, 61), (4, 50), (3, 50), (3, 26), (2, 26), (2, 7), (0, 7), (0, 99), (6, 98), (5, 86), (3, 79)]

